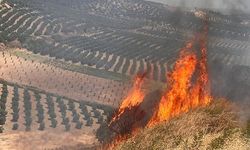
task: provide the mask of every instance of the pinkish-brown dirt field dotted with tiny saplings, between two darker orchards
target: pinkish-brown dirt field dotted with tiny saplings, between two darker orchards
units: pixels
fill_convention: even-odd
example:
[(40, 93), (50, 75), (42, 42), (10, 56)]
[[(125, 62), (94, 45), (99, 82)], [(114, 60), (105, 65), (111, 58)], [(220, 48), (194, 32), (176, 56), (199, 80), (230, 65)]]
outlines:
[(11, 55), (7, 51), (0, 54), (0, 77), (75, 100), (96, 101), (111, 106), (117, 106), (131, 87), (128, 82), (63, 70)]

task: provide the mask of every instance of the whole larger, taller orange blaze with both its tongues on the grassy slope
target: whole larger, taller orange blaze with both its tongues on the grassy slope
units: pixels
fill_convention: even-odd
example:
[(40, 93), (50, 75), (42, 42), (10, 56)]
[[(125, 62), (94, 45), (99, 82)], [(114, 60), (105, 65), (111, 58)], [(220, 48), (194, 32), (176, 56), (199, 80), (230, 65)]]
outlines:
[[(194, 41), (189, 42), (181, 50), (173, 72), (169, 75), (169, 89), (163, 94), (158, 108), (148, 126), (167, 121), (180, 113), (187, 112), (197, 106), (206, 106), (211, 102), (207, 72), (207, 26), (204, 32), (194, 41), (199, 41), (201, 58), (198, 60), (193, 52)], [(195, 84), (192, 77), (198, 73)]]

